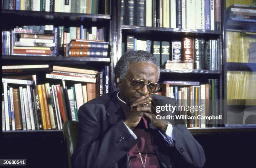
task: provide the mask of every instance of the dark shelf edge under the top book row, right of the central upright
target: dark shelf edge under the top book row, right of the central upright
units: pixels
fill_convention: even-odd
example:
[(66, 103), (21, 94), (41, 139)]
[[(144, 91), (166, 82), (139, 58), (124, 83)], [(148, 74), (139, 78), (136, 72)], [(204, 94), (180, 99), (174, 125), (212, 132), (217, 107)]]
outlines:
[(180, 29), (180, 28), (165, 28), (165, 27), (141, 27), (141, 26), (130, 26), (122, 25), (122, 30), (127, 30), (129, 32), (172, 32), (172, 33), (182, 33), (185, 35), (222, 35), (221, 31), (212, 30), (190, 30), (190, 29)]

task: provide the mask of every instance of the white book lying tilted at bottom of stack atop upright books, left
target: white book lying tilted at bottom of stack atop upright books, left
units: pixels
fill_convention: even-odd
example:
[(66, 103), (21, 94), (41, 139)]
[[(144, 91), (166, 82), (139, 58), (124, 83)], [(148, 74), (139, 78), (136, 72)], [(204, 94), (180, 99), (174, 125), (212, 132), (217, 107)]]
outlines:
[(90, 82), (90, 83), (95, 83), (96, 82), (96, 79), (92, 79), (92, 78), (71, 77), (71, 76), (56, 75), (56, 74), (46, 74), (46, 78), (69, 80), (69, 81), (78, 81), (78, 82)]

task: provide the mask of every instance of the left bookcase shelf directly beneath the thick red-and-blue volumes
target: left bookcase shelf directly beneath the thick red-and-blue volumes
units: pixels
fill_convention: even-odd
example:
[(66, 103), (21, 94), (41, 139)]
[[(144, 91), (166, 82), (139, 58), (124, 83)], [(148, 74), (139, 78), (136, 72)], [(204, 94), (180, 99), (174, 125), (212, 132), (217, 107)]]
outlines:
[(34, 61), (51, 61), (51, 62), (67, 62), (67, 63), (80, 63), (84, 62), (110, 62), (110, 58), (94, 58), (94, 57), (44, 57), (44, 56), (15, 56), (15, 55), (3, 55), (3, 60), (15, 59), (15, 60), (34, 60)]

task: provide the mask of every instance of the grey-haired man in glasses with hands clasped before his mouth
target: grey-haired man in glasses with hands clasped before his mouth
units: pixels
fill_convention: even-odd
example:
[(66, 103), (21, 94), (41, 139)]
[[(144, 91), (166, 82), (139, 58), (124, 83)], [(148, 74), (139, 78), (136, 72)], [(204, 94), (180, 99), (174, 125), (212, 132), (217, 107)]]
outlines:
[[(80, 107), (79, 137), (73, 168), (202, 167), (205, 155), (181, 121), (156, 119), (151, 105), (156, 95), (159, 65), (144, 51), (124, 54), (116, 64), (120, 91), (105, 94)], [(152, 102), (152, 103), (151, 103)]]

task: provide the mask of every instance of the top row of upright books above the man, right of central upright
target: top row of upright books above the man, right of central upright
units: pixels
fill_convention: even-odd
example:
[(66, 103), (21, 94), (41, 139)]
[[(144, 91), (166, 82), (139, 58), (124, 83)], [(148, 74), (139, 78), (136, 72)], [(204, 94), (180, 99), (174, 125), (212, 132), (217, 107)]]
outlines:
[(221, 30), (220, 0), (122, 0), (121, 24)]

